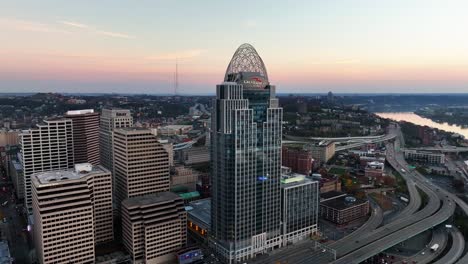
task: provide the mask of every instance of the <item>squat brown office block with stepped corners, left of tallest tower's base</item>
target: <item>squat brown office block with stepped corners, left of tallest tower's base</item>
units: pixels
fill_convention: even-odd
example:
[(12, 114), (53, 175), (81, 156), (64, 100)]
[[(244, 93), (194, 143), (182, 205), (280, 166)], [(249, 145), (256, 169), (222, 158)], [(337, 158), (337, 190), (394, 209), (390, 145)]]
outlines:
[(133, 263), (172, 263), (187, 242), (187, 212), (171, 192), (125, 199), (122, 240)]

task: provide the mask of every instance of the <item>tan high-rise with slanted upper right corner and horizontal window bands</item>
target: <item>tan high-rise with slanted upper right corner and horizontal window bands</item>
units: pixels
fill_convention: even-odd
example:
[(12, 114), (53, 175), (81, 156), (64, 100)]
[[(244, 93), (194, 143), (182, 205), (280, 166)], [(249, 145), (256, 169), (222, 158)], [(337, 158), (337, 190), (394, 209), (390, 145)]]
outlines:
[(116, 205), (135, 196), (169, 191), (169, 156), (150, 130), (114, 130)]

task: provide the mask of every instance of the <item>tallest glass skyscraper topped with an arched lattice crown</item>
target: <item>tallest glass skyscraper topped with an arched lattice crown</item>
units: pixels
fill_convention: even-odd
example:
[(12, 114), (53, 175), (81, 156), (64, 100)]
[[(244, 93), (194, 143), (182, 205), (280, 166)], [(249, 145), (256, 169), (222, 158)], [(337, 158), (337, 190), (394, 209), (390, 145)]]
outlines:
[(212, 245), (232, 263), (282, 244), (283, 111), (251, 45), (235, 52), (213, 106)]

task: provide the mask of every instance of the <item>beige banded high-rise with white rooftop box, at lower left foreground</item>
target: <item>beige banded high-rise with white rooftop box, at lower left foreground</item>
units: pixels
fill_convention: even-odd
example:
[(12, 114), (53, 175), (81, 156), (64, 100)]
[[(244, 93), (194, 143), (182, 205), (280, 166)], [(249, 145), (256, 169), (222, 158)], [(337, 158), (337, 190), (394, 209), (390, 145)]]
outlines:
[(84, 163), (31, 180), (40, 263), (94, 263), (95, 244), (113, 239), (110, 171)]

